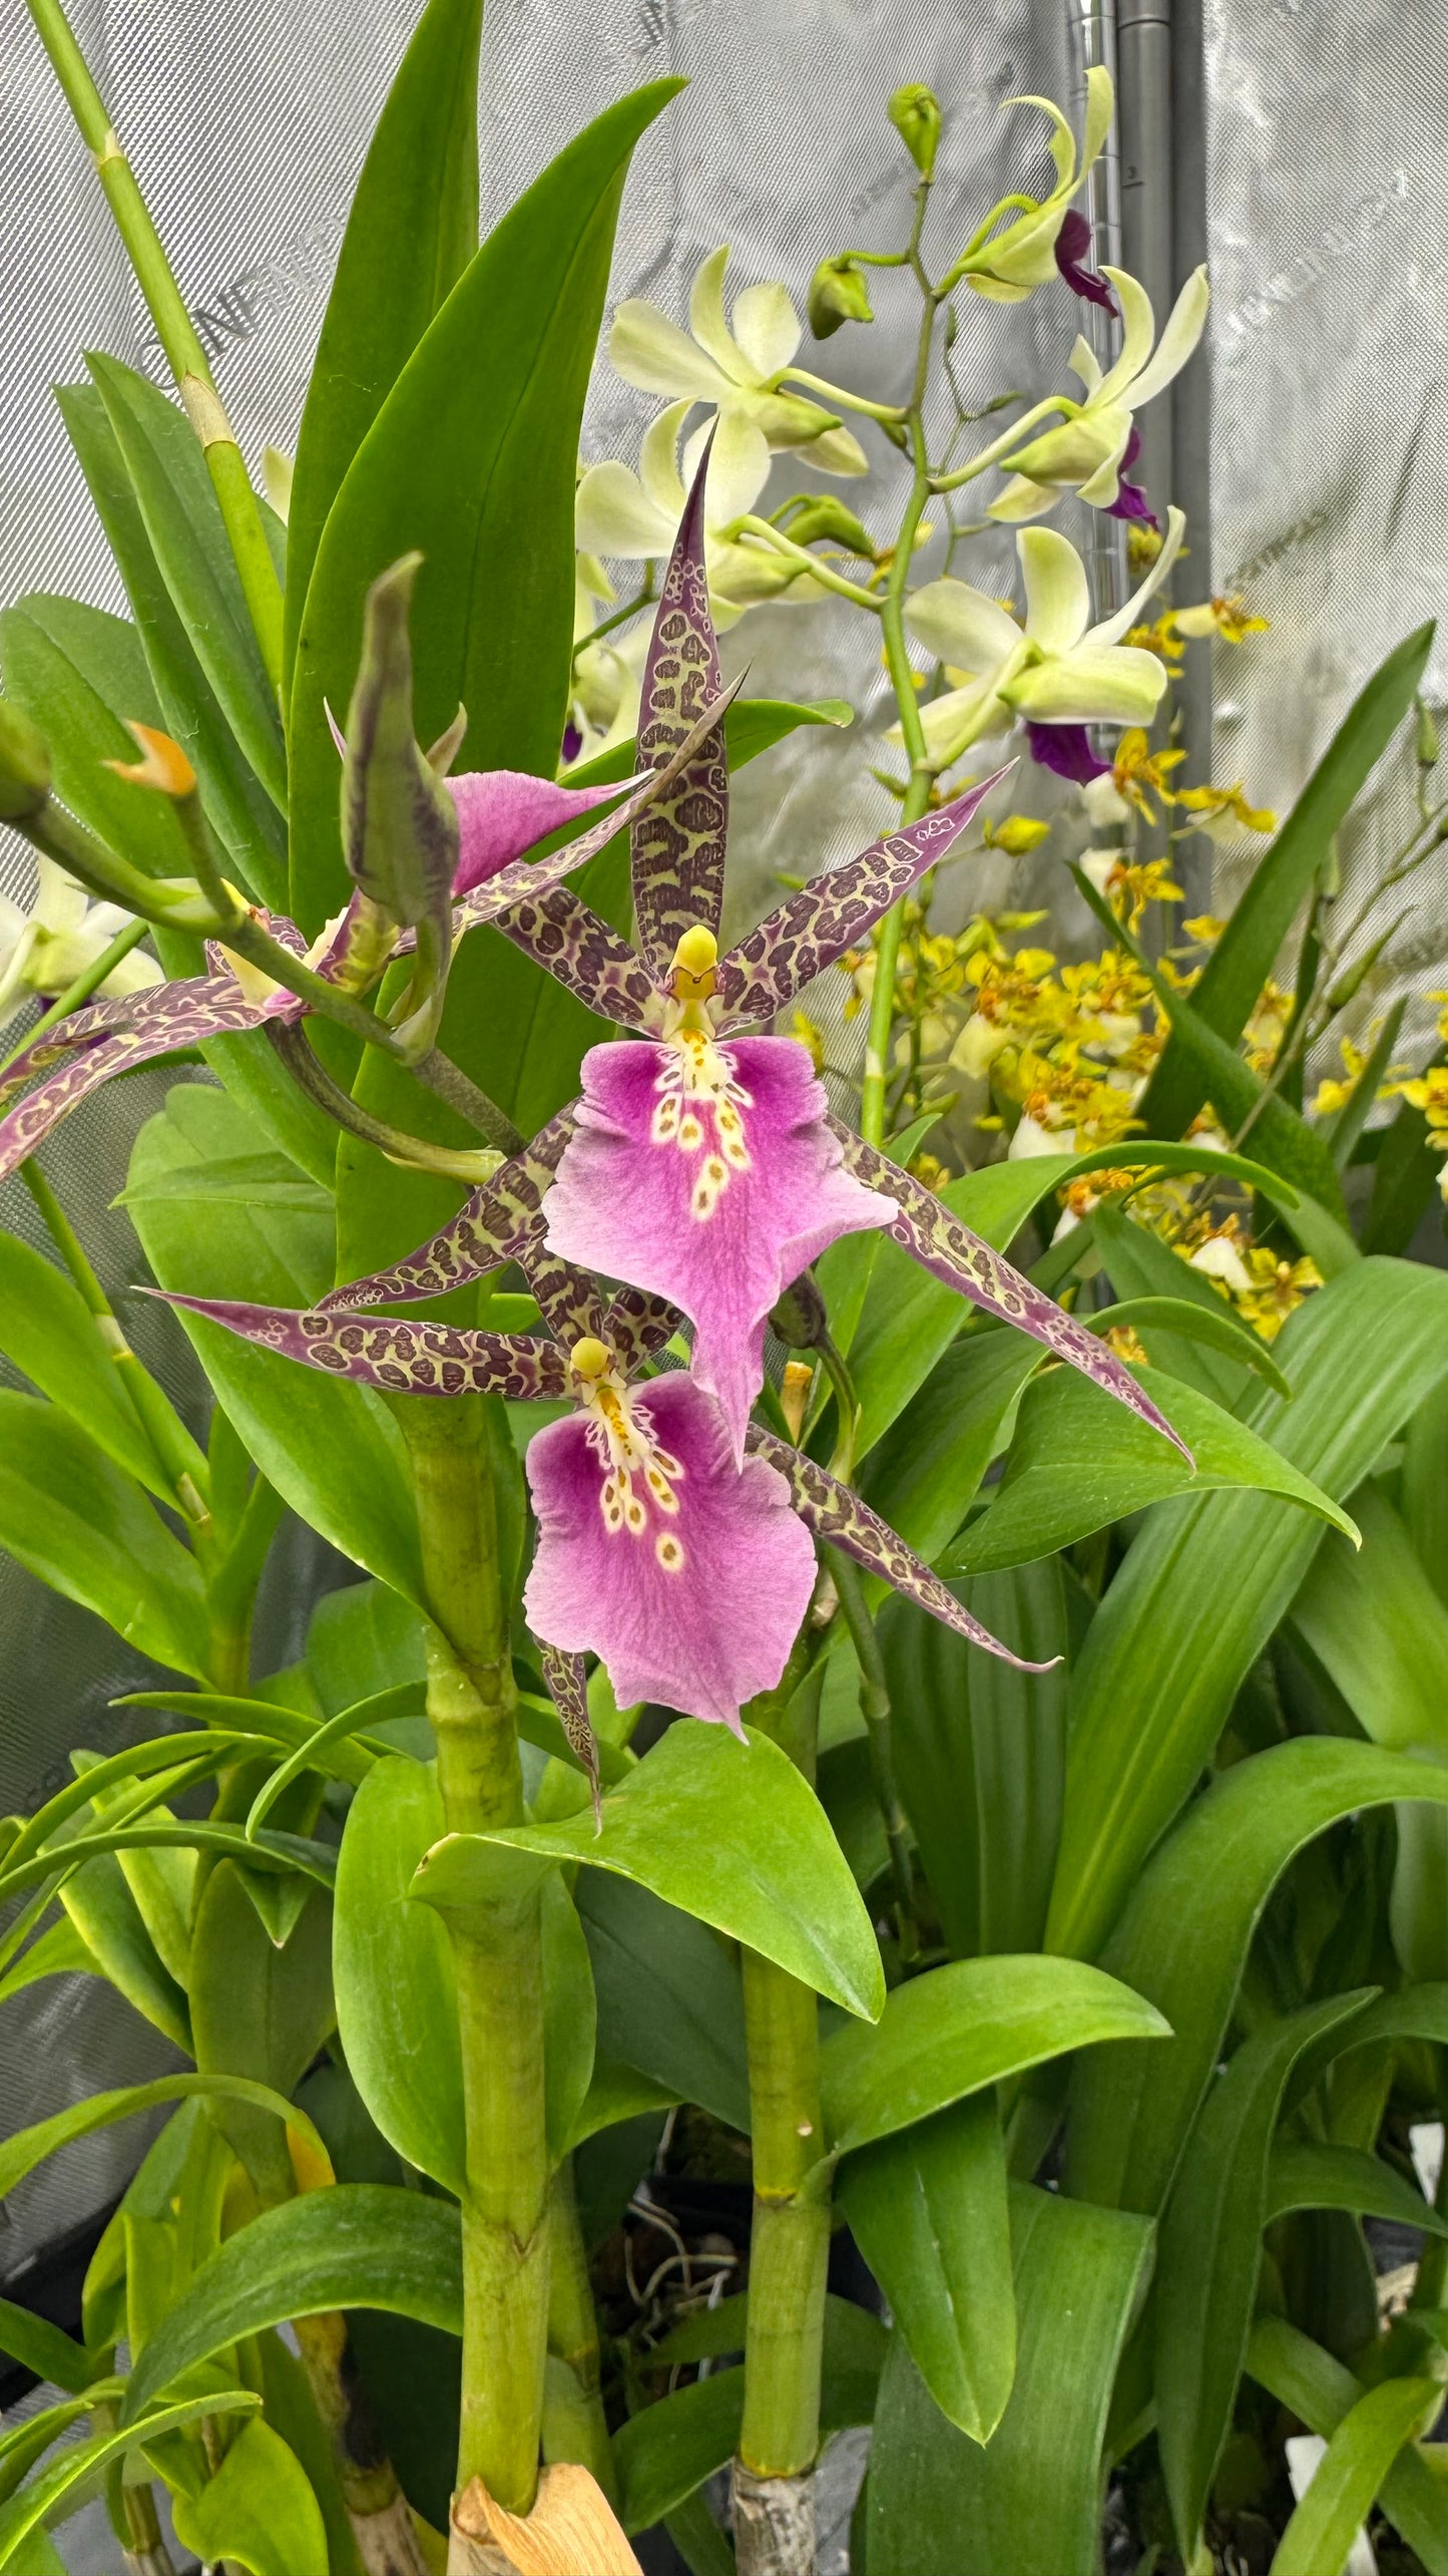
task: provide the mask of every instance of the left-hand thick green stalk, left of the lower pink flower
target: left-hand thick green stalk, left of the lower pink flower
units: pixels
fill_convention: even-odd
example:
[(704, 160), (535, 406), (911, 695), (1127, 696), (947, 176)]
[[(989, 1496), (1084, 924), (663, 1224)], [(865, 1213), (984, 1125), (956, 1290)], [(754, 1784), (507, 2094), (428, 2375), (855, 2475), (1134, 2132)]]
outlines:
[[(523, 1824), (518, 1703), (497, 1507), (472, 1396), (399, 1396), (412, 1458), (428, 1633), (428, 1718), (451, 1834)], [(448, 1914), (464, 2053), (464, 2391), (459, 2488), (533, 2504), (549, 2342), (541, 1901)]]

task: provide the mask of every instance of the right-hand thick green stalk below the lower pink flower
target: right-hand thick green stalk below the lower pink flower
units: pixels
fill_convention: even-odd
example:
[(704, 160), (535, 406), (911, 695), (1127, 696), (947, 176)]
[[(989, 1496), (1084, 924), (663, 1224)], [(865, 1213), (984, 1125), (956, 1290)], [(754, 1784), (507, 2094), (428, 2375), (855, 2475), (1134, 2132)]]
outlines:
[[(806, 1631), (809, 1636), (809, 1631)], [(814, 1780), (824, 1664), (801, 1685), (806, 1638), (750, 1723)], [(739, 2460), (755, 2478), (804, 2478), (819, 2450), (830, 2161), (819, 2105), (819, 2007), (809, 1986), (742, 1953), (755, 2223)]]

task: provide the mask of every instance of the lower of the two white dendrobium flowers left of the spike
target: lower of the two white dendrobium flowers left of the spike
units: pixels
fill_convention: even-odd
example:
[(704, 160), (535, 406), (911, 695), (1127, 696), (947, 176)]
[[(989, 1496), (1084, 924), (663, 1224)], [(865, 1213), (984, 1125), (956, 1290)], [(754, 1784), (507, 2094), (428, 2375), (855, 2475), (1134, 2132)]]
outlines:
[(763, 430), (742, 412), (724, 412), (719, 428), (703, 420), (688, 438), (680, 466), (678, 440), (691, 410), (691, 402), (670, 402), (667, 412), (660, 412), (644, 430), (636, 474), (613, 459), (587, 469), (575, 502), (575, 536), (585, 556), (667, 556), (698, 461), (714, 433), (703, 497), (703, 559), (714, 623), (732, 626), (745, 608), (776, 600), (781, 592), (794, 600), (819, 598), (809, 574), (801, 574), (783, 554), (770, 554), (765, 546), (739, 546), (729, 536), (729, 528), (755, 507), (770, 474)]

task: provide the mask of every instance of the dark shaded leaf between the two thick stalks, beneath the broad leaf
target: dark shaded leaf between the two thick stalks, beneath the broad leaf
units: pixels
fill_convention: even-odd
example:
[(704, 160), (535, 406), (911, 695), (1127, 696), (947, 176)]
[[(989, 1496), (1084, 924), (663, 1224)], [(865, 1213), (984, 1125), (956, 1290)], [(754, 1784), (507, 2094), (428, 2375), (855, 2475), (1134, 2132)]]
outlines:
[(709, 1924), (608, 1870), (580, 1870), (575, 1901), (593, 1958), (598, 2058), (750, 2133), (745, 1989)]

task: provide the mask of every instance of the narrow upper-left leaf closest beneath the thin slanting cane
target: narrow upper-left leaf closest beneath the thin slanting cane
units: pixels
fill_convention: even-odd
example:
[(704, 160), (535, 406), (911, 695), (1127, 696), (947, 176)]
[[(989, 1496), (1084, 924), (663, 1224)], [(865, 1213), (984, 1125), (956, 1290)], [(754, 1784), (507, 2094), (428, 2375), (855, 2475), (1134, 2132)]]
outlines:
[(180, 404), (137, 368), (98, 350), (85, 363), (191, 649), (252, 775), (286, 814), (281, 716), (196, 433)]

